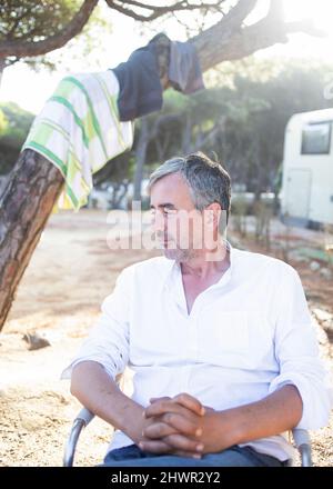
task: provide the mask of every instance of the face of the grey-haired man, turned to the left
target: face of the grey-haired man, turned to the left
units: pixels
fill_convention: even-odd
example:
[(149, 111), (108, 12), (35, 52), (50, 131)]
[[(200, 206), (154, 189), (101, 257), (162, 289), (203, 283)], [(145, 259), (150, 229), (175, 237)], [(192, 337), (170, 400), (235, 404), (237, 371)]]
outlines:
[(202, 250), (202, 213), (194, 208), (190, 189), (179, 173), (162, 177), (151, 188), (157, 240), (169, 259), (188, 261)]

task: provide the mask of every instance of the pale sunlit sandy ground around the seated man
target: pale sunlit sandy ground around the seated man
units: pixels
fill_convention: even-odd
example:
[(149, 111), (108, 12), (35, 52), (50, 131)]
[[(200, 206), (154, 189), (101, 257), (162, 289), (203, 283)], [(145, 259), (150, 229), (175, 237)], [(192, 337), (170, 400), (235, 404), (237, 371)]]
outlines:
[[(0, 466), (62, 465), (80, 406), (60, 373), (94, 323), (119, 271), (157, 253), (110, 250), (108, 232), (107, 213), (92, 210), (53, 214), (43, 232), (0, 335)], [(323, 358), (332, 368), (333, 323), (323, 311), (332, 312), (333, 281), (316, 277), (306, 263), (295, 266), (316, 311)], [(29, 351), (22, 337), (34, 331), (51, 346)], [(99, 463), (111, 435), (111, 427), (94, 420), (81, 436), (75, 465)], [(313, 432), (312, 440), (315, 465), (333, 467), (333, 420)]]

